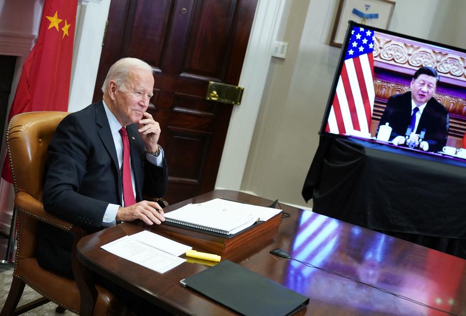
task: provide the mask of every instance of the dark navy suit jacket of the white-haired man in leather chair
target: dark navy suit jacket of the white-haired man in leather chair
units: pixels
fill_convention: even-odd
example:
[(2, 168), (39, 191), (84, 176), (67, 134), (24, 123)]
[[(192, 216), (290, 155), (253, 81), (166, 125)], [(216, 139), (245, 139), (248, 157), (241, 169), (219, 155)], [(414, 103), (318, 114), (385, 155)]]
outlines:
[[(162, 197), (167, 171), (145, 158), (137, 124), (127, 126), (136, 201), (142, 195)], [(103, 103), (67, 115), (57, 127), (48, 148), (43, 201), (50, 214), (83, 227), (88, 233), (101, 229), (109, 203), (122, 205), (121, 174), (115, 143)], [(69, 274), (73, 236), (50, 225), (38, 227), (37, 256), (46, 269)]]

